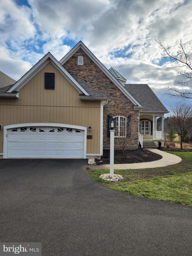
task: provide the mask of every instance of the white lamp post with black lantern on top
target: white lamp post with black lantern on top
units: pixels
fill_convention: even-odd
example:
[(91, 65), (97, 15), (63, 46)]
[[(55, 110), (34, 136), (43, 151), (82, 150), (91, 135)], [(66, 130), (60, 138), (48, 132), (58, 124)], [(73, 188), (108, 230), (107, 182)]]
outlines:
[(110, 177), (114, 176), (114, 135), (115, 135), (115, 118), (110, 119)]

